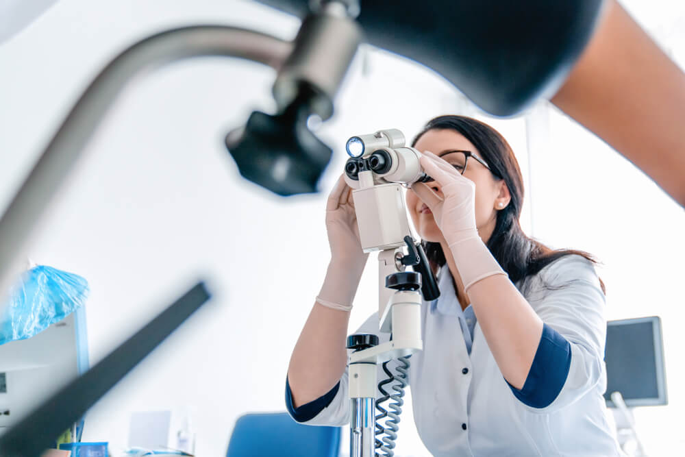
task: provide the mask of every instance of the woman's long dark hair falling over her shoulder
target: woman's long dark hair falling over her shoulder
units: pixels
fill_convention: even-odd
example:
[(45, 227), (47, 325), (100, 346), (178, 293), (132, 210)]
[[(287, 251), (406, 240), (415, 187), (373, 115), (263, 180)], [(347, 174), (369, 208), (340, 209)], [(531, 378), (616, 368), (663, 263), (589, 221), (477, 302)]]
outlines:
[[(587, 252), (574, 249), (553, 250), (523, 233), (519, 223), (523, 208), (521, 169), (509, 143), (497, 130), (466, 116), (438, 116), (431, 119), (416, 135), (412, 146), (416, 145), (423, 134), (435, 129), (453, 130), (471, 141), (480, 156), (490, 165), (495, 179), (504, 180), (509, 188), (511, 201), (506, 208), (497, 211), (497, 223), (487, 246), (514, 284), (523, 280), (521, 283), (523, 285), (527, 277), (538, 273), (554, 260), (571, 254), (577, 254), (594, 264), (597, 263), (597, 260)], [(422, 243), (428, 260), (442, 267), (446, 260), (440, 243), (427, 241)], [(601, 280), (599, 282), (602, 291), (605, 292), (603, 282)]]

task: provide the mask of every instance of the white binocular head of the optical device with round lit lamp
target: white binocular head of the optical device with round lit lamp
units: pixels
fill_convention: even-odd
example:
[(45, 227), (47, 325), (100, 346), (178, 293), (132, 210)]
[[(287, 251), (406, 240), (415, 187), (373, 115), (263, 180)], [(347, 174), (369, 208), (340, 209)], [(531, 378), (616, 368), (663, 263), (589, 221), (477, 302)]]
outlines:
[(346, 149), (350, 158), (345, 164), (345, 174), (351, 186), (354, 183), (349, 181), (358, 182), (362, 171), (371, 171), (378, 184), (396, 182), (410, 186), (417, 181), (432, 180), (419, 164), (421, 153), (404, 145), (404, 135), (398, 129), (353, 136), (347, 140)]

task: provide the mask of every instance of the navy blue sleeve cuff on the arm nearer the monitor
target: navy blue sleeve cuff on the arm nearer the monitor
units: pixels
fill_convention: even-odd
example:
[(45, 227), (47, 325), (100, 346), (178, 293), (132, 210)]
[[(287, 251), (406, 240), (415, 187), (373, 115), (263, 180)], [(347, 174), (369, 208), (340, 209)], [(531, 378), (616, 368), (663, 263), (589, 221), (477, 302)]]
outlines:
[[(514, 396), (533, 408), (549, 406), (561, 392), (571, 367), (571, 343), (543, 323), (543, 336), (521, 390), (509, 384)], [(506, 381), (506, 380), (505, 380)]]

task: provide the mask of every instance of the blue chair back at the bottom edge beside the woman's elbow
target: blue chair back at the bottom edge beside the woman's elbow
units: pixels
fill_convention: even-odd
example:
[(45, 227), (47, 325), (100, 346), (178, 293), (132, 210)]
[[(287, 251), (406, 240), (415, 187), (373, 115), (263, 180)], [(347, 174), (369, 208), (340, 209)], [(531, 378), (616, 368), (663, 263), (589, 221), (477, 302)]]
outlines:
[(340, 427), (302, 425), (287, 412), (241, 416), (228, 443), (227, 457), (338, 457)]

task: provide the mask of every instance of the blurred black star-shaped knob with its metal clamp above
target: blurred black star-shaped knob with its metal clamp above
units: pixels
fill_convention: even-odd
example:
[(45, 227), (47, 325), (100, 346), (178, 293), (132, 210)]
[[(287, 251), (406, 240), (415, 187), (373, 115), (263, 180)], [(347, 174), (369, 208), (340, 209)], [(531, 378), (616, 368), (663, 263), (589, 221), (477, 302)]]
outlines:
[(353, 4), (330, 1), (306, 16), (273, 85), (277, 113), (255, 111), (226, 136), (247, 180), (284, 197), (316, 192), (333, 150), (307, 121), (333, 115), (333, 99), (362, 41), (354, 14)]

